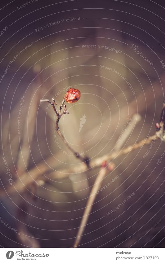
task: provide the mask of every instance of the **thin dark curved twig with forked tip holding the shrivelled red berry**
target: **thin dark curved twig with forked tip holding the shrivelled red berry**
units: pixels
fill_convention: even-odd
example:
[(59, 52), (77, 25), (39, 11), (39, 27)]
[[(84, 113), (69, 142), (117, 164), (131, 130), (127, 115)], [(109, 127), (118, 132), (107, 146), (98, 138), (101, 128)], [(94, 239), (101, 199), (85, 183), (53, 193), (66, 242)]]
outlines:
[[(86, 166), (89, 168), (89, 161), (88, 161), (88, 158), (84, 158), (82, 157), (78, 152), (74, 151), (72, 149), (72, 147), (69, 146), (69, 144), (67, 143), (67, 141), (65, 140), (63, 134), (61, 133), (60, 129), (59, 129), (59, 120), (60, 118), (64, 115), (64, 114), (69, 114), (69, 112), (67, 111), (66, 109), (66, 105), (64, 105), (65, 103), (65, 99), (63, 98), (63, 101), (61, 103), (61, 106), (59, 108), (59, 112), (57, 112), (56, 108), (54, 105), (57, 105), (57, 103), (55, 103), (55, 100), (52, 99), (52, 101), (50, 101), (49, 99), (40, 99), (40, 102), (48, 102), (52, 105), (53, 109), (54, 109), (54, 112), (57, 116), (57, 119), (56, 119), (56, 123), (55, 123), (55, 130), (57, 131), (57, 133), (59, 134), (60, 138), (62, 139), (62, 141), (65, 143), (65, 145), (67, 146), (67, 148), (72, 151), (72, 153), (76, 156), (76, 158), (80, 159), (82, 162), (85, 162)], [(61, 113), (61, 110), (62, 108), (64, 107), (64, 110), (63, 112)]]

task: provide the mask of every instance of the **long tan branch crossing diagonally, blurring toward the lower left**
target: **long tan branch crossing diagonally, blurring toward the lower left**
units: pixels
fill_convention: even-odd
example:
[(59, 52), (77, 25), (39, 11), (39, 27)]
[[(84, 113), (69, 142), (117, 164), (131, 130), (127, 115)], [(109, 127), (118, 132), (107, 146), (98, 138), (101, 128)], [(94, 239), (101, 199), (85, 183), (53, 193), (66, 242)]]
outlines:
[[(150, 144), (152, 141), (156, 141), (158, 139), (163, 140), (164, 135), (162, 134), (162, 129), (164, 126), (164, 122), (161, 122), (160, 124), (160, 128), (157, 129), (157, 131), (155, 132), (154, 135), (149, 136), (147, 138), (144, 138), (134, 144), (131, 144), (125, 148), (123, 148), (122, 150), (119, 151), (114, 151), (109, 155), (104, 155), (101, 157), (98, 157), (96, 159), (90, 160), (90, 169), (94, 169), (97, 167), (100, 167), (100, 165), (102, 164), (103, 161), (113, 161), (115, 158), (118, 158), (119, 156), (128, 154), (138, 148), (143, 147), (144, 145)], [(41, 173), (46, 173), (50, 170), (50, 166), (46, 165), (46, 163), (52, 163), (54, 162), (54, 157), (49, 157), (47, 160), (45, 160), (44, 162), (40, 162), (37, 167), (34, 167), (33, 169), (31, 169), (30, 171), (28, 171), (27, 173), (24, 173), (21, 176), (21, 183), (20, 183), (20, 179), (18, 179), (14, 186), (17, 189), (17, 191), (22, 192), (24, 191), (24, 187), (27, 187), (29, 184), (31, 184), (34, 180), (38, 179), (41, 176)], [(81, 173), (86, 171), (86, 165), (85, 163), (81, 163), (81, 164), (75, 164), (73, 165), (71, 168), (67, 168), (67, 169), (59, 169), (59, 171), (54, 171), (53, 175), (52, 175), (52, 179), (58, 179), (58, 178), (66, 178), (69, 176), (69, 174), (71, 173)], [(47, 178), (46, 178), (47, 179)], [(44, 180), (44, 178), (43, 178)], [(14, 187), (8, 187), (6, 188), (7, 193), (13, 193), (15, 191)], [(0, 196), (6, 194), (5, 191), (1, 191), (0, 192)]]

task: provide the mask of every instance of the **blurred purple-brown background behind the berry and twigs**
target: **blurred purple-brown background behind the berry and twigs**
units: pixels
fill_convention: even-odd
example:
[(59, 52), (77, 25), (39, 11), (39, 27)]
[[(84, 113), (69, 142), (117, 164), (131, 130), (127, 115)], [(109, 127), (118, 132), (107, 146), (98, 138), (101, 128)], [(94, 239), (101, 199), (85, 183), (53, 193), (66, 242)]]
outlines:
[[(53, 109), (40, 99), (54, 97), (59, 107), (67, 87), (81, 91), (77, 103), (66, 103), (70, 114), (59, 128), (90, 160), (154, 134), (164, 99), (165, 4), (14, 0), (0, 5), (0, 245), (72, 247), (99, 168), (79, 172), (80, 160), (54, 131)], [(71, 18), (76, 20), (57, 22)], [(117, 144), (128, 118), (131, 125)], [(164, 159), (157, 162), (165, 145), (158, 140), (149, 147), (113, 160), (115, 169), (102, 186), (119, 178), (97, 194), (79, 247), (164, 247)]]

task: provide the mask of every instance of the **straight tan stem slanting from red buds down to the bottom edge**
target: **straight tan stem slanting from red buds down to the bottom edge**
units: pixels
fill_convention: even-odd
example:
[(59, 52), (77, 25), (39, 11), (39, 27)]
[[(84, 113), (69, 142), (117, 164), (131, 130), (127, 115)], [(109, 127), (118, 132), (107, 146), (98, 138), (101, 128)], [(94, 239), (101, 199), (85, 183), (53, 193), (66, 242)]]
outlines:
[(85, 207), (85, 211), (83, 213), (83, 217), (81, 219), (79, 230), (78, 230), (77, 235), (76, 235), (76, 240), (75, 240), (75, 243), (74, 243), (74, 246), (73, 246), (74, 248), (76, 248), (79, 245), (79, 243), (80, 243), (80, 240), (81, 240), (81, 237), (82, 237), (83, 232), (85, 230), (85, 226), (86, 226), (86, 223), (88, 221), (88, 218), (89, 218), (89, 215), (90, 215), (90, 212), (91, 212), (94, 200), (96, 198), (96, 195), (92, 195), (92, 194), (96, 193), (98, 191), (98, 189), (100, 189), (100, 186), (102, 184), (102, 180), (106, 176), (107, 171), (108, 171), (108, 169), (106, 169), (105, 167), (101, 167), (100, 171), (99, 171), (99, 173), (98, 173), (98, 175), (96, 177), (96, 180), (94, 182), (94, 185), (92, 187), (92, 190), (90, 192), (90, 195), (89, 195), (86, 207)]

